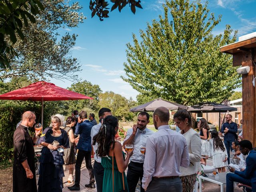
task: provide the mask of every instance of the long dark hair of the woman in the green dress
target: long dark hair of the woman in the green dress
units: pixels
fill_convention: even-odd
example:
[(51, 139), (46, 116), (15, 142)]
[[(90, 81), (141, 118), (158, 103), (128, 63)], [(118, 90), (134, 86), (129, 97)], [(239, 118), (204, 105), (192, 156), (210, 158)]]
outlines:
[(92, 139), (93, 145), (96, 142), (98, 143), (97, 156), (104, 157), (108, 155), (111, 144), (113, 144), (112, 149), (114, 149), (117, 126), (118, 120), (116, 117), (106, 116), (104, 118), (100, 131)]

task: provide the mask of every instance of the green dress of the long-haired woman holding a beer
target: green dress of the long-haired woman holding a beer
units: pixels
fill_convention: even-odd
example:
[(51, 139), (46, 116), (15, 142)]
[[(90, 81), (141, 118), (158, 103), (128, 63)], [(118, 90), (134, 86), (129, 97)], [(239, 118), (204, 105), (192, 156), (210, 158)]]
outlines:
[[(123, 152), (123, 156), (124, 156), (124, 152)], [(102, 192), (112, 192), (113, 191), (112, 157), (111, 156), (102, 157), (101, 165), (104, 167)], [(125, 191), (129, 191), (125, 173), (124, 173), (124, 186), (125, 186)], [(123, 190), (123, 177), (122, 177), (122, 173), (118, 171), (116, 158), (114, 157), (114, 192), (120, 192), (122, 190)]]

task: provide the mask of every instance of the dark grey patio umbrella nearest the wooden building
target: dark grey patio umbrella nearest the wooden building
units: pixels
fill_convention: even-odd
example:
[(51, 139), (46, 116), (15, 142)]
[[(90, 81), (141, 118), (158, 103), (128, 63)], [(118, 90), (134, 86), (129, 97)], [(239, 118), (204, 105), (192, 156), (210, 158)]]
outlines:
[[(197, 105), (193, 105), (188, 108), (188, 111), (192, 113), (206, 113), (207, 121), (208, 121), (208, 113), (218, 112), (219, 118), (220, 118), (220, 113), (227, 112), (227, 111), (236, 111), (236, 110), (237, 108), (235, 107), (230, 107), (227, 105), (214, 103), (214, 102), (199, 103)], [(220, 129), (220, 120), (219, 120), (219, 129)]]

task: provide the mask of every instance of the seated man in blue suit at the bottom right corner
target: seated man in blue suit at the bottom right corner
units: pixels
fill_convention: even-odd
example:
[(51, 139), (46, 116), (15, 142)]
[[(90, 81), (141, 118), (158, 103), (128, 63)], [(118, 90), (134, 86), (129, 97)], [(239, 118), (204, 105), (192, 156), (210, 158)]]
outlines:
[(230, 168), (230, 172), (226, 176), (227, 192), (234, 191), (234, 182), (252, 186), (252, 191), (256, 191), (256, 151), (252, 150), (252, 143), (248, 140), (242, 140), (239, 143), (240, 151), (246, 157), (246, 169), (244, 171), (235, 171)]

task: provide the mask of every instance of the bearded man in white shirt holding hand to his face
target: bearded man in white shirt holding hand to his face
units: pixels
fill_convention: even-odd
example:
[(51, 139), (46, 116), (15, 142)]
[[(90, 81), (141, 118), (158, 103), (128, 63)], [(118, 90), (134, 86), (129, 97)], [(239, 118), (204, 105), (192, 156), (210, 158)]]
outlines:
[[(127, 171), (127, 183), (129, 192), (135, 192), (137, 183), (143, 177), (143, 164), (145, 155), (140, 152), (140, 147), (146, 147), (146, 141), (154, 132), (146, 126), (149, 123), (149, 114), (147, 112), (140, 112), (138, 115), (137, 124), (134, 124), (131, 129), (127, 131), (125, 144), (133, 144), (133, 155), (130, 157), (130, 163)], [(144, 192), (142, 186), (140, 191)]]

